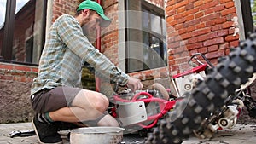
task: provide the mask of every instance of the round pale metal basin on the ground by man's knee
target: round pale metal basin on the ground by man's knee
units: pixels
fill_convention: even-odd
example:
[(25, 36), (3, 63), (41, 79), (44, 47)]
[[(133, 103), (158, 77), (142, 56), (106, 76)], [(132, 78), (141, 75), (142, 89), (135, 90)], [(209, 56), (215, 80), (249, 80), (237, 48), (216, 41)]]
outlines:
[(70, 144), (118, 144), (123, 140), (123, 128), (86, 127), (72, 130)]

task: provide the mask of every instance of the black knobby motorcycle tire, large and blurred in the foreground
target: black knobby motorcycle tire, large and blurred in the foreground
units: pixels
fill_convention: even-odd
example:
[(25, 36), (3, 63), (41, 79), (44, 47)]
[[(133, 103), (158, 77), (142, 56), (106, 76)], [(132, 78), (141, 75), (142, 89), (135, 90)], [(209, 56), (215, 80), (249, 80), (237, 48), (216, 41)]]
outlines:
[[(246, 84), (255, 72), (256, 34), (253, 33), (247, 40), (241, 41), (237, 48), (230, 49), (230, 55), (220, 59), (206, 78), (195, 84), (190, 95), (186, 95), (183, 101), (176, 102), (174, 110), (167, 112), (166, 118), (161, 119), (153, 132), (148, 134), (145, 144), (178, 144), (193, 132), (199, 136), (207, 136), (211, 130), (208, 125), (215, 122), (216, 118), (221, 118), (218, 113), (233, 109), (226, 105), (229, 100), (233, 102), (236, 99), (234, 97), (245, 92), (241, 84)], [(244, 97), (248, 111), (255, 116), (255, 101)], [(220, 120), (220, 124), (230, 124), (230, 121)], [(212, 125), (213, 130), (216, 130)]]

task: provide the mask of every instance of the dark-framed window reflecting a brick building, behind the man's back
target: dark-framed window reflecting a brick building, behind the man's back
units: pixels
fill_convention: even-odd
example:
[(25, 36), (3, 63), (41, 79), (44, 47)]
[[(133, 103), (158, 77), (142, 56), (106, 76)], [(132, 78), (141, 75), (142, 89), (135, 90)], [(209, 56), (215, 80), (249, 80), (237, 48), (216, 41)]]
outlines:
[(47, 0), (0, 2), (0, 60), (38, 64), (44, 47)]

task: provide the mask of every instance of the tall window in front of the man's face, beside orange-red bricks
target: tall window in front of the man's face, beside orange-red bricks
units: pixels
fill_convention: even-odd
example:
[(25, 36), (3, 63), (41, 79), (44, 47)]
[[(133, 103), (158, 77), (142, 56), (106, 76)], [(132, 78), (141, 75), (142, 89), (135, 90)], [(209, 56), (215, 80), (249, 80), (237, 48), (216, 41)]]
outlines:
[(125, 3), (126, 72), (167, 66), (164, 10), (145, 1)]

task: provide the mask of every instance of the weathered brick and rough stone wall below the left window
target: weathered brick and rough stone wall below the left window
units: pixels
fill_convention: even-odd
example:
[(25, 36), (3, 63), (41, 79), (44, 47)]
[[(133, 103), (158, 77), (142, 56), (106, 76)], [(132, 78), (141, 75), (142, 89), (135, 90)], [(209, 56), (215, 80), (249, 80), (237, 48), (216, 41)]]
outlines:
[(0, 123), (32, 120), (29, 100), (32, 78), (38, 67), (20, 66), (0, 62)]

